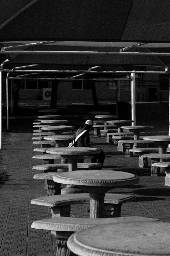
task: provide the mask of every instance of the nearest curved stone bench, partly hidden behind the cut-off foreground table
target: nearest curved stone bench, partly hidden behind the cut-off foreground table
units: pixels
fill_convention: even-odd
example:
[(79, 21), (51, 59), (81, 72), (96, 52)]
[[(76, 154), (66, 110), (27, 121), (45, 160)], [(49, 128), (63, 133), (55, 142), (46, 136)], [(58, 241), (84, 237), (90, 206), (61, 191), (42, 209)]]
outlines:
[(154, 218), (146, 218), (140, 216), (133, 217), (118, 217), (118, 218), (73, 218), (73, 217), (54, 217), (49, 219), (41, 219), (34, 221), (31, 228), (52, 230), (56, 238), (57, 244), (57, 255), (68, 256), (70, 255), (70, 250), (67, 247), (67, 240), (73, 232), (80, 231), (82, 229), (87, 229), (89, 227), (99, 225), (99, 224), (114, 224), (122, 222), (147, 222), (147, 221), (157, 221)]

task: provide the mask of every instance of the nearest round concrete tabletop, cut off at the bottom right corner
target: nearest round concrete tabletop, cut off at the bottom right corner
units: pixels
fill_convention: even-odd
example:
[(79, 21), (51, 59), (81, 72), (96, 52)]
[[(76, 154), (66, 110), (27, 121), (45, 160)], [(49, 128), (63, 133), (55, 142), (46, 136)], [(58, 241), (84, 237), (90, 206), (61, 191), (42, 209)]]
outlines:
[(79, 256), (169, 256), (170, 223), (104, 224), (73, 233), (67, 246)]

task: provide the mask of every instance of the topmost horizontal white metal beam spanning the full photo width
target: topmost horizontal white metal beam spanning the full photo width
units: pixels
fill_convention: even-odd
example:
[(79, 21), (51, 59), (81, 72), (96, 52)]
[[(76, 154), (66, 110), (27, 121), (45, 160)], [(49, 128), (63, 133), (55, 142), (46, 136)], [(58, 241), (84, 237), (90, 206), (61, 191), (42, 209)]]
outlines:
[(0, 51), (0, 54), (75, 54), (75, 55), (138, 55), (138, 56), (170, 56), (170, 53), (139, 52), (94, 52), (94, 51)]

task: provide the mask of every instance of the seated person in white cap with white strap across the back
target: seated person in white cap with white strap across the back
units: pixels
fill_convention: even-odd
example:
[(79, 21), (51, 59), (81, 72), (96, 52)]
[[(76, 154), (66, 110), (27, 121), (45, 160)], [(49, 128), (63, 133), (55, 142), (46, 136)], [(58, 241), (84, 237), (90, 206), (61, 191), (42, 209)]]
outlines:
[[(73, 140), (75, 141), (75, 138), (83, 131), (85, 131), (81, 137), (74, 142), (74, 147), (92, 147), (89, 143), (90, 143), (90, 135), (89, 135), (89, 131), (93, 126), (93, 121), (92, 120), (86, 120), (85, 124), (83, 126), (81, 126), (73, 135)], [(101, 153), (99, 154), (94, 154), (93, 155), (94, 158), (91, 159), (92, 163), (96, 163), (98, 160), (98, 163), (101, 163), (102, 167), (103, 167), (103, 162), (105, 159), (105, 154), (103, 151), (101, 151)], [(101, 167), (101, 168), (102, 168)], [(99, 168), (100, 169), (100, 168)]]

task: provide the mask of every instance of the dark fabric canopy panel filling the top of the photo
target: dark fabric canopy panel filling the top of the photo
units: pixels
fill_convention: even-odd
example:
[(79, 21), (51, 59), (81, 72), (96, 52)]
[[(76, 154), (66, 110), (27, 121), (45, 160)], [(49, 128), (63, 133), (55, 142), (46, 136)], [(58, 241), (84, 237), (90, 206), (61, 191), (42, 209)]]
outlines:
[(169, 0), (1, 0), (0, 41), (170, 42)]

